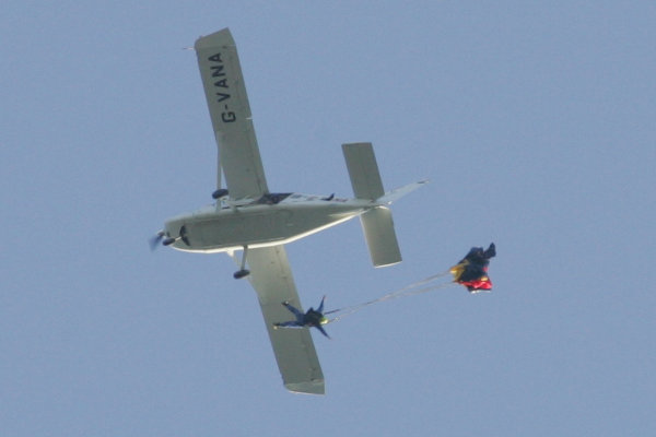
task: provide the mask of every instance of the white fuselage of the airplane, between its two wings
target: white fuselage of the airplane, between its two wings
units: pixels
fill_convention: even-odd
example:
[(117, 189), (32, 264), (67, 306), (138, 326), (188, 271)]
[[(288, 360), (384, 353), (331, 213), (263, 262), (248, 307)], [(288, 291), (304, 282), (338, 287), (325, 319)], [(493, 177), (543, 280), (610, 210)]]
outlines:
[(361, 199), (272, 193), (178, 215), (166, 222), (165, 233), (176, 238), (172, 247), (190, 252), (267, 247), (294, 241), (376, 206)]

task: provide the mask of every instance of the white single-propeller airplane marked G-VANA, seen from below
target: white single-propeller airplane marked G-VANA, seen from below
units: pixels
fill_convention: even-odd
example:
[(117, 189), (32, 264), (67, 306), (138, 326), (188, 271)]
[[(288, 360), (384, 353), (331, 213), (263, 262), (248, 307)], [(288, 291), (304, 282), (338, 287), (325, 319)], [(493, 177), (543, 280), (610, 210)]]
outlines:
[(274, 329), (290, 318), (282, 303), (303, 310), (283, 245), (359, 216), (374, 265), (400, 262), (387, 206), (425, 181), (385, 193), (372, 144), (353, 143), (342, 150), (354, 199), (269, 191), (230, 31), (199, 38), (195, 50), (219, 145), (218, 189), (212, 193), (218, 201), (166, 221), (153, 244), (233, 257), (242, 250), (234, 277), (248, 276), (257, 292), (284, 386), (292, 392), (324, 394), (309, 330)]

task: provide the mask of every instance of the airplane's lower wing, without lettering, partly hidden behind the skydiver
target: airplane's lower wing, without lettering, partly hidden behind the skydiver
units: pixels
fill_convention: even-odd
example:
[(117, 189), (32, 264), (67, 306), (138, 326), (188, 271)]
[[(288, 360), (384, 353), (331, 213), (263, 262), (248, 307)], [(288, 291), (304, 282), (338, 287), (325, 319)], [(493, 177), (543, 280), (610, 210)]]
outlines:
[(284, 247), (248, 249), (248, 267), (284, 386), (298, 393), (324, 394), (324, 374), (309, 330), (273, 329), (273, 323), (294, 318), (283, 302), (303, 310)]

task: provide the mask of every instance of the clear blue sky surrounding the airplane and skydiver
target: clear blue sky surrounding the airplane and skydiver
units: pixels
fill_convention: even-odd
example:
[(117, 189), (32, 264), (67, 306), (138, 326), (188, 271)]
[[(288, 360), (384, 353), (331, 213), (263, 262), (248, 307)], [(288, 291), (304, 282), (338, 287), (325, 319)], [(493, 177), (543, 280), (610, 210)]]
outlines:
[[(0, 15), (7, 436), (653, 435), (652, 1), (14, 1)], [(109, 4), (109, 3), (107, 3)], [(195, 39), (230, 26), (269, 187), (351, 196), (372, 141), (405, 262), (352, 221), (288, 246), (303, 304), (497, 245), (493, 293), (368, 307), (288, 393), (222, 255), (159, 250), (211, 201)]]

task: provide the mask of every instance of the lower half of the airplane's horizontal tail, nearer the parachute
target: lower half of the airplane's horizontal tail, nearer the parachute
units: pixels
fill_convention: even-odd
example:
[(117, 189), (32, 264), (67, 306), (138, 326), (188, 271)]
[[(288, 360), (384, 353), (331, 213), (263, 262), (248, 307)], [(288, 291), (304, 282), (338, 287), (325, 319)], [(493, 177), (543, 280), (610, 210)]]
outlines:
[(394, 231), (391, 211), (375, 208), (360, 216), (364, 238), (374, 267), (386, 267), (401, 262), (401, 250)]

